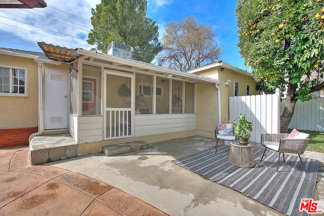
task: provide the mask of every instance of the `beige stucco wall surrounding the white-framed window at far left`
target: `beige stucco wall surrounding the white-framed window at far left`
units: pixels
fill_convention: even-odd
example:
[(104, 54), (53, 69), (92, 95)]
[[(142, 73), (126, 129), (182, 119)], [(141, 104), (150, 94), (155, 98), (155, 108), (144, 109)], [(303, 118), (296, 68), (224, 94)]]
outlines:
[(0, 55), (0, 65), (26, 70), (27, 96), (0, 95), (0, 128), (38, 125), (38, 65), (33, 59)]

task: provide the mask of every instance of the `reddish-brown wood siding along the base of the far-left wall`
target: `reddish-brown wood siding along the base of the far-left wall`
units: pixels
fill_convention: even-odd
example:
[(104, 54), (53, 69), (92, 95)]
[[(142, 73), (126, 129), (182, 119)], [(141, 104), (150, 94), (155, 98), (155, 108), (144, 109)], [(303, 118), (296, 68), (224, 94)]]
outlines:
[(37, 132), (37, 127), (0, 129), (0, 148), (28, 145), (28, 138)]

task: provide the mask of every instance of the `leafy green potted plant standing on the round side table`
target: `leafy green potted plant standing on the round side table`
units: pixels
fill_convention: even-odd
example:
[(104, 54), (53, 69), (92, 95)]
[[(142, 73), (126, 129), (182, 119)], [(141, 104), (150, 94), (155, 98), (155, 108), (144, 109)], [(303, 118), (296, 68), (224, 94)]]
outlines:
[(253, 123), (247, 120), (246, 114), (240, 114), (234, 121), (237, 125), (234, 128), (234, 133), (237, 135), (237, 141), (240, 144), (248, 144), (252, 132)]

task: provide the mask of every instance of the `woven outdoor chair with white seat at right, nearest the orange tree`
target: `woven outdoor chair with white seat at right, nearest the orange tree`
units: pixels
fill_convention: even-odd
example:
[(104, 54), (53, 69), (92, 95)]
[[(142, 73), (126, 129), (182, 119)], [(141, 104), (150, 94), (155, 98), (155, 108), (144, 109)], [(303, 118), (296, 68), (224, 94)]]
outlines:
[(279, 168), (279, 160), (280, 154), (282, 153), (282, 157), (284, 158), (285, 162), (285, 153), (293, 153), (298, 154), (299, 159), (303, 165), (303, 168), (306, 171), (304, 166), (303, 160), (300, 157), (300, 154), (303, 154), (307, 144), (309, 142), (309, 134), (301, 133), (294, 129), (290, 134), (280, 133), (280, 134), (261, 134), (261, 145), (265, 147), (264, 152), (262, 154), (260, 163), (264, 156), (265, 151), (267, 148), (276, 151), (279, 153), (278, 156), (278, 164), (277, 164), (277, 172)]

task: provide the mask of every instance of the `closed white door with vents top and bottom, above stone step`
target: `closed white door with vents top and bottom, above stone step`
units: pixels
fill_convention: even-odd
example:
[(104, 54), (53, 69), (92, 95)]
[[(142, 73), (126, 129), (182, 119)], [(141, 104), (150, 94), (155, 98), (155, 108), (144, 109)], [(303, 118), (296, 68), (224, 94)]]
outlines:
[(45, 69), (45, 130), (67, 129), (67, 85), (67, 71)]

